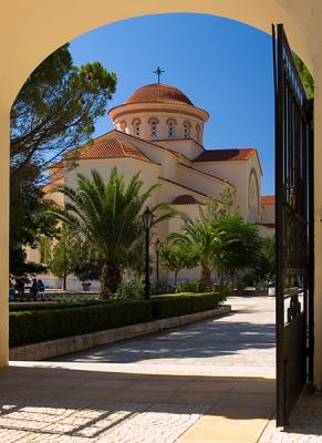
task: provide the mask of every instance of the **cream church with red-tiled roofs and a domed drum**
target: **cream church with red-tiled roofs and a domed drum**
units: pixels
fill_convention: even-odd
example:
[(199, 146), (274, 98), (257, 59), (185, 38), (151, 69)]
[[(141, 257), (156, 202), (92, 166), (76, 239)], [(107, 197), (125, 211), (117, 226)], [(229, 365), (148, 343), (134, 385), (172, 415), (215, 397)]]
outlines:
[[(136, 90), (124, 104), (108, 112), (114, 130), (83, 147), (76, 167), (65, 167), (67, 159), (50, 168), (49, 192), (58, 184), (75, 187), (79, 173), (90, 176), (92, 169), (103, 177), (116, 166), (125, 177), (138, 171), (144, 188), (162, 186), (150, 206), (168, 202), (198, 217), (199, 205), (209, 196), (220, 202), (226, 187), (236, 189), (236, 204), (246, 220), (259, 224), (261, 235), (274, 231), (274, 197), (261, 196), (262, 169), (255, 147), (211, 150), (202, 143), (209, 114), (197, 107), (181, 91), (167, 84), (148, 84)], [(51, 195), (63, 205), (63, 196)], [(163, 222), (155, 237), (165, 239), (178, 231), (179, 219)], [(193, 278), (197, 270), (181, 272)]]

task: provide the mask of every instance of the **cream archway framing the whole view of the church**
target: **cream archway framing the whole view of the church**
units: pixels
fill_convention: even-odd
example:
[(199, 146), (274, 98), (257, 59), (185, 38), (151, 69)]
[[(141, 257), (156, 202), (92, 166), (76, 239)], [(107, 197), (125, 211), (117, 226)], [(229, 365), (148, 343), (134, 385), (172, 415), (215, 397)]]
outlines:
[[(9, 208), (9, 114), (11, 104), (27, 76), (51, 52), (64, 42), (106, 23), (144, 14), (167, 12), (196, 12), (221, 16), (270, 32), (271, 23), (283, 22), (292, 48), (301, 55), (315, 74), (315, 121), (322, 121), (322, 6), (320, 0), (308, 4), (301, 0), (85, 0), (73, 2), (56, 0), (43, 2), (27, 0), (12, 6), (2, 2), (0, 35), (3, 42), (1, 62), (0, 100), (0, 365), (8, 364), (8, 208)], [(7, 42), (10, 40), (10, 45)], [(315, 128), (315, 145), (322, 143), (322, 125)], [(322, 164), (322, 153), (315, 155), (315, 165)], [(320, 183), (321, 182), (321, 183)], [(315, 187), (322, 186), (322, 176), (316, 174)], [(322, 207), (322, 195), (316, 197), (316, 208)], [(315, 230), (316, 245), (322, 237), (320, 225)], [(321, 250), (316, 248), (316, 288), (321, 287)], [(321, 280), (321, 281), (320, 281)], [(321, 317), (322, 297), (316, 299), (316, 318)], [(316, 336), (321, 336), (322, 324), (316, 324)], [(321, 384), (322, 358), (316, 343), (316, 382)], [(322, 356), (321, 356), (322, 357)], [(321, 360), (321, 361), (320, 361)]]

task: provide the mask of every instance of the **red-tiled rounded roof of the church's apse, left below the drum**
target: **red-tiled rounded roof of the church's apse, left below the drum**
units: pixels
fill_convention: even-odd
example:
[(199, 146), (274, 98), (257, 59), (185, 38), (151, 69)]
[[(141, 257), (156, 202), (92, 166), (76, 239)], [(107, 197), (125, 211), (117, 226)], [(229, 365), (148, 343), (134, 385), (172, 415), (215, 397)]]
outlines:
[(80, 154), (80, 159), (116, 157), (132, 157), (144, 162), (150, 162), (150, 159), (132, 143), (121, 138), (106, 138), (104, 136), (96, 138), (93, 144), (85, 146)]

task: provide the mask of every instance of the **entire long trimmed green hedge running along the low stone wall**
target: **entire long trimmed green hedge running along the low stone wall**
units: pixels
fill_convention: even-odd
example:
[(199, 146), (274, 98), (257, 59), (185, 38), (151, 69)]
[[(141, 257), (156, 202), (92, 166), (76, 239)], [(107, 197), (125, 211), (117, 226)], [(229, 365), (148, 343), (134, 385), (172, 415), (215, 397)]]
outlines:
[(153, 297), (150, 301), (10, 312), (10, 347), (205, 311), (221, 300), (219, 293), (180, 293)]

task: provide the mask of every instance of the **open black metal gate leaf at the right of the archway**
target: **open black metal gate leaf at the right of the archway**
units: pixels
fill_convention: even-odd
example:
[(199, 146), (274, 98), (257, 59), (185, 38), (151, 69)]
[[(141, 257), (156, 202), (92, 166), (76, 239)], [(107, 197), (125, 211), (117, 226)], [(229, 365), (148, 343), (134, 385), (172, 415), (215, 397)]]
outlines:
[(282, 24), (277, 35), (273, 27), (273, 55), (277, 424), (281, 426), (313, 372), (313, 113)]

